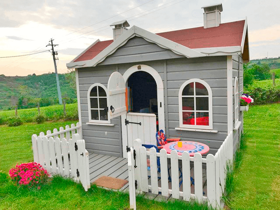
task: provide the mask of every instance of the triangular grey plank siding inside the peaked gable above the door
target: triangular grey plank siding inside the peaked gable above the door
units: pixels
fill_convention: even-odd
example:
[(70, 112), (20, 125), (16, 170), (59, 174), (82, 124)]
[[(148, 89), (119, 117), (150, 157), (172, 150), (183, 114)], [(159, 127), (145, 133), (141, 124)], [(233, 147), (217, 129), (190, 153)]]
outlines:
[(135, 36), (117, 49), (112, 55), (109, 55), (99, 65), (133, 63), (182, 57), (184, 56), (177, 55), (171, 50), (164, 49), (154, 43), (144, 40), (141, 37)]

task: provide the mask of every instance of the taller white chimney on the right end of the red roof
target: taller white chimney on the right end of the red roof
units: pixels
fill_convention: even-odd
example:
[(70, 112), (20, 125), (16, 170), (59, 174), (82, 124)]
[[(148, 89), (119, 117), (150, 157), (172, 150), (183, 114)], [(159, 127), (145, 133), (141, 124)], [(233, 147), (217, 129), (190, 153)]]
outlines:
[(218, 27), (221, 23), (222, 3), (201, 7), (204, 9), (203, 20), (204, 28)]

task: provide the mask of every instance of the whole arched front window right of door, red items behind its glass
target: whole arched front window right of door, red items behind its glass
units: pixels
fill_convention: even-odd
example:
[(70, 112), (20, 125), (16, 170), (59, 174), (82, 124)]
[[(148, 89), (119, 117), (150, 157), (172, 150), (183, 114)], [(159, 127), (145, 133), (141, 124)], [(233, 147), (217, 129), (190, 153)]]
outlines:
[(189, 79), (179, 90), (181, 128), (213, 129), (212, 90), (201, 79)]

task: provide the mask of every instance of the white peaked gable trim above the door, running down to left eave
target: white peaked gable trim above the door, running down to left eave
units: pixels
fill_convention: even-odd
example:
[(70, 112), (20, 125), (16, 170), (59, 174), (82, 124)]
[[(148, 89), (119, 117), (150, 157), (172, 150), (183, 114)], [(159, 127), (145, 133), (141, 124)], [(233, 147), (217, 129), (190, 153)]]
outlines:
[[(96, 55), (91, 60), (78, 61), (78, 62), (70, 62), (66, 64), (68, 69), (79, 68), (79, 67), (91, 67), (96, 66), (106, 59), (107, 56), (113, 54), (119, 47), (123, 46), (129, 39), (134, 36), (139, 36), (144, 38), (145, 40), (155, 43), (165, 49), (172, 50), (174, 53), (178, 55), (184, 55), (187, 58), (195, 58), (195, 57), (204, 57), (206, 55), (180, 45), (176, 42), (170, 41), (166, 38), (163, 38), (159, 35), (156, 35), (152, 32), (141, 29), (137, 26), (132, 26), (128, 31), (126, 31), (122, 36), (120, 36), (117, 40), (115, 40), (112, 44), (102, 50), (98, 55)], [(79, 55), (80, 56), (80, 55)]]

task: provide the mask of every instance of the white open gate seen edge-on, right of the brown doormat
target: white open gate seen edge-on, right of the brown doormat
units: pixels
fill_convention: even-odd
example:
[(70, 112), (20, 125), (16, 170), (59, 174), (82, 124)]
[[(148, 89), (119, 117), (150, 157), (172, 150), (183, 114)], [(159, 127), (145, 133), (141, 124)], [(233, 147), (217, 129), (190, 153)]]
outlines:
[(134, 164), (133, 164), (133, 148), (127, 152), (128, 158), (128, 182), (129, 182), (129, 205), (130, 208), (136, 210), (136, 193), (135, 193), (135, 177), (134, 177)]

